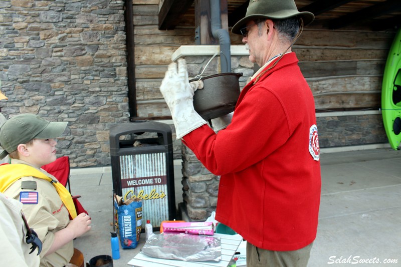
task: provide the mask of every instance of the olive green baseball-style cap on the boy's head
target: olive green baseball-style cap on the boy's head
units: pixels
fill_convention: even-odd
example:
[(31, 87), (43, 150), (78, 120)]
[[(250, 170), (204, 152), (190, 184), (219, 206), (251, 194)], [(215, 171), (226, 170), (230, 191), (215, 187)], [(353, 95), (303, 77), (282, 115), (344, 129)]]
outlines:
[(0, 159), (16, 151), (19, 144), (32, 139), (54, 139), (63, 134), (68, 122), (49, 122), (39, 115), (20, 114), (8, 119), (0, 128)]

